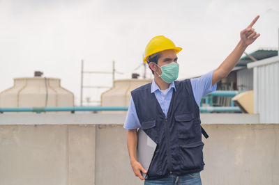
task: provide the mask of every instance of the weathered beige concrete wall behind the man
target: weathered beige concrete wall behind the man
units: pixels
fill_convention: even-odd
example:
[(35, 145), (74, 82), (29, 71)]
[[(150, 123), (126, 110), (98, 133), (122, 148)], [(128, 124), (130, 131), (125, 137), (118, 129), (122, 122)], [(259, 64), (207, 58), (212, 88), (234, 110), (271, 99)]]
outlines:
[[(38, 124), (27, 124), (26, 116)], [(279, 124), (257, 124), (257, 115), (245, 114), (201, 118), (209, 134), (203, 184), (278, 184)], [(0, 115), (0, 184), (143, 184), (130, 168), (126, 130), (119, 123), (124, 119), (117, 114)], [(220, 119), (223, 124), (214, 123)]]

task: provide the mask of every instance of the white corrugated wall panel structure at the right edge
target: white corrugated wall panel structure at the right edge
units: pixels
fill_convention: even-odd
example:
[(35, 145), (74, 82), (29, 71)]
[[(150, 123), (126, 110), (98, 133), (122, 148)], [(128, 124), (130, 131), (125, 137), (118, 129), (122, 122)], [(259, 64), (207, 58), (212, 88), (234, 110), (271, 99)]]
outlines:
[(254, 112), (261, 123), (279, 123), (279, 56), (248, 64), (254, 69)]

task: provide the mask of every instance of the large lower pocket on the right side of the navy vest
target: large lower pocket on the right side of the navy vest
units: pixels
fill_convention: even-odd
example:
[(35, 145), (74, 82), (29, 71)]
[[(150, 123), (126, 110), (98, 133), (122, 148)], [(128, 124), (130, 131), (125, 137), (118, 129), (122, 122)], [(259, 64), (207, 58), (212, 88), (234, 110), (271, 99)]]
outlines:
[(203, 147), (204, 143), (202, 143), (202, 141), (181, 145), (181, 169), (190, 170), (202, 168), (202, 166), (204, 166), (204, 156), (202, 154)]

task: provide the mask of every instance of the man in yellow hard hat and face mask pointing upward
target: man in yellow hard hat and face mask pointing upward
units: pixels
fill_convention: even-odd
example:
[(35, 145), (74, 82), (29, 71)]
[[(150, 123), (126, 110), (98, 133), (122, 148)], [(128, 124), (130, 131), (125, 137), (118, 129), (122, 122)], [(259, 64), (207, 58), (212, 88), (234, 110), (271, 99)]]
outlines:
[[(246, 47), (259, 37), (252, 29), (258, 18), (241, 31), (238, 45), (218, 69), (196, 79), (175, 81), (179, 74), (176, 54), (181, 48), (162, 35), (150, 40), (144, 62), (149, 64), (154, 79), (131, 92), (124, 124), (130, 164), (140, 179), (144, 179), (141, 172), (147, 173), (144, 184), (202, 184), (199, 172), (204, 169), (204, 143), (199, 102), (216, 90), (216, 83), (227, 77)], [(137, 161), (138, 128), (157, 143), (149, 169)]]

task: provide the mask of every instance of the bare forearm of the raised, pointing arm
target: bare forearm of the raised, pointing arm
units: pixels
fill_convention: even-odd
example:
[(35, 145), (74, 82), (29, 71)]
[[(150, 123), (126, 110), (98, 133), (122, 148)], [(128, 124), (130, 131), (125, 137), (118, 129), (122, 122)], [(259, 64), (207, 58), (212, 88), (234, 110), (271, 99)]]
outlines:
[(236, 66), (236, 63), (239, 61), (239, 58), (241, 58), (246, 48), (247, 45), (243, 44), (243, 42), (240, 40), (234, 48), (234, 51), (232, 51), (232, 53), (227, 56), (225, 61), (221, 63), (217, 70), (219, 70), (218, 73), (222, 78), (227, 77), (229, 72), (231, 72), (234, 66)]

